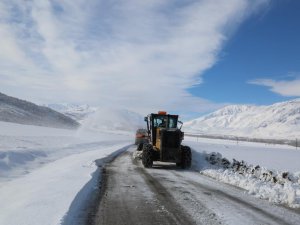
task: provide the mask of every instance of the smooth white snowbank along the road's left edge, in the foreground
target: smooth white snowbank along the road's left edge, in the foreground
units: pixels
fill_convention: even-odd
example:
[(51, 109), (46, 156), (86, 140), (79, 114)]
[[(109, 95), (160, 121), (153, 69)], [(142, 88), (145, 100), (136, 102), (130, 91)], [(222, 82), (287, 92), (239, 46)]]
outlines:
[[(95, 159), (103, 159), (124, 144), (83, 152), (49, 163), (0, 188), (0, 224), (74, 224), (76, 215), (94, 188), (98, 176)], [(87, 185), (88, 184), (88, 185)], [(76, 201), (76, 202), (74, 202)], [(69, 214), (68, 214), (69, 212)]]

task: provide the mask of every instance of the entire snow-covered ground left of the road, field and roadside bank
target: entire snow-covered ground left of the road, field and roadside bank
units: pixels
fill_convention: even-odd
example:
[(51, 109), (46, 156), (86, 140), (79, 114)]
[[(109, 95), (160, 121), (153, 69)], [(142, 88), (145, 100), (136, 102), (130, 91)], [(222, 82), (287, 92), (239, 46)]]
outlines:
[(88, 132), (0, 122), (0, 224), (73, 224), (99, 167), (133, 142)]

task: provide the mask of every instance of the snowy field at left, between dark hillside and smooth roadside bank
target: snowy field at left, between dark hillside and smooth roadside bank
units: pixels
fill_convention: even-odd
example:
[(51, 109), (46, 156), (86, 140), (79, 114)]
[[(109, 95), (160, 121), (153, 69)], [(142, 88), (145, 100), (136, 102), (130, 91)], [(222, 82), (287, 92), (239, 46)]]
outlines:
[(128, 143), (132, 134), (89, 133), (0, 122), (0, 186), (46, 163), (112, 143)]

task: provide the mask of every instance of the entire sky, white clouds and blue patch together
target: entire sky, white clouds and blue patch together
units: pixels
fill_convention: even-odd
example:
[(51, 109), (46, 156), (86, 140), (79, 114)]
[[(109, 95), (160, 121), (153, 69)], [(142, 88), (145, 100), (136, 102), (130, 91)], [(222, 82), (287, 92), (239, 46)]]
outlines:
[(299, 97), (299, 4), (2, 0), (0, 92), (186, 118)]

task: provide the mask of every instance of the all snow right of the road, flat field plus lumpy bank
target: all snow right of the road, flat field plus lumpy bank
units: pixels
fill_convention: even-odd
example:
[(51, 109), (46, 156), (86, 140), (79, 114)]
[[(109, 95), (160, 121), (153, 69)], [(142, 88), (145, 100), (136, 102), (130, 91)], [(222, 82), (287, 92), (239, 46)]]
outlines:
[[(299, 149), (284, 145), (204, 138), (186, 138), (185, 144), (193, 148), (193, 165), (201, 174), (241, 187), (258, 198), (300, 208)], [(251, 170), (234, 171), (222, 165), (211, 165), (205, 157), (212, 152), (220, 153), (221, 158), (227, 158), (231, 165), (233, 159), (244, 160)], [(254, 170), (257, 165), (259, 169)], [(288, 173), (286, 177), (285, 172)], [(273, 177), (278, 180), (273, 182)]]

